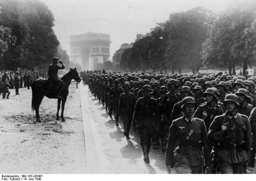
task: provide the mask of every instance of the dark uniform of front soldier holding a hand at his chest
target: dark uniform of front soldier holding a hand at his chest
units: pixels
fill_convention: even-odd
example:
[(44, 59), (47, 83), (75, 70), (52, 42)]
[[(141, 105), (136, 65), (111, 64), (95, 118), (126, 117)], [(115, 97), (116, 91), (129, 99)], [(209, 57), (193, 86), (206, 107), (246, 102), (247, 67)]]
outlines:
[[(222, 125), (227, 123), (227, 130)], [(209, 140), (217, 143), (217, 162), (221, 173), (246, 173), (251, 152), (251, 126), (243, 114), (225, 113), (217, 116), (208, 132)]]

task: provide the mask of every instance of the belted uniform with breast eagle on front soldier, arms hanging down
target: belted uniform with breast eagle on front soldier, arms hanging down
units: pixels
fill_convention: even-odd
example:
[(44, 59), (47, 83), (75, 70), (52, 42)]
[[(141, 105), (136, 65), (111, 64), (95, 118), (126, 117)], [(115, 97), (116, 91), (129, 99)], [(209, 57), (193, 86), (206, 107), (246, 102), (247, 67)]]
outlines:
[[(177, 140), (179, 145), (174, 151)], [(165, 165), (174, 167), (178, 173), (199, 174), (203, 173), (203, 156), (205, 166), (209, 167), (210, 147), (204, 121), (185, 116), (175, 119), (169, 129)]]

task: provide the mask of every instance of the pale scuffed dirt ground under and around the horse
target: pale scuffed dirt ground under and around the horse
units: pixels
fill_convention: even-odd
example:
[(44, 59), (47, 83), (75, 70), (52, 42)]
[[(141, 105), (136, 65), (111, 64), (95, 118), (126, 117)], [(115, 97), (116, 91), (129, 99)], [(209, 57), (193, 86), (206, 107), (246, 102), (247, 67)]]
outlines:
[(69, 87), (65, 122), (56, 120), (57, 99), (44, 97), (35, 122), (31, 111), (32, 90), (10, 90), (0, 97), (1, 173), (87, 173), (80, 90)]

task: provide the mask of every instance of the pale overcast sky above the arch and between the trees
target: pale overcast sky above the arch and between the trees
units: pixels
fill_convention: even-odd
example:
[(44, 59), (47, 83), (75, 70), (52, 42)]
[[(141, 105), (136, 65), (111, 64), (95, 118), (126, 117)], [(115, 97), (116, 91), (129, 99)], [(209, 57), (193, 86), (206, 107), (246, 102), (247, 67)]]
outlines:
[[(42, 0), (55, 17), (61, 46), (70, 52), (69, 36), (87, 32), (110, 34), (110, 59), (122, 43), (135, 41), (169, 18), (170, 13), (204, 6), (225, 10), (234, 0)], [(243, 0), (244, 1), (244, 0)]]

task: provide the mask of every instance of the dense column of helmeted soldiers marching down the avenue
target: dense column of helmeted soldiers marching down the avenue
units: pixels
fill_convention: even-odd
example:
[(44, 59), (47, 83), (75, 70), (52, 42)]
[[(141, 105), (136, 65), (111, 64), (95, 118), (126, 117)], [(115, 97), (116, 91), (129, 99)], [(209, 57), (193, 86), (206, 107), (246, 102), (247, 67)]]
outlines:
[[(169, 173), (246, 173), (254, 167), (256, 77), (86, 73), (83, 83), (124, 135), (139, 131), (144, 161), (162, 145)], [(160, 140), (160, 141), (159, 141)]]

